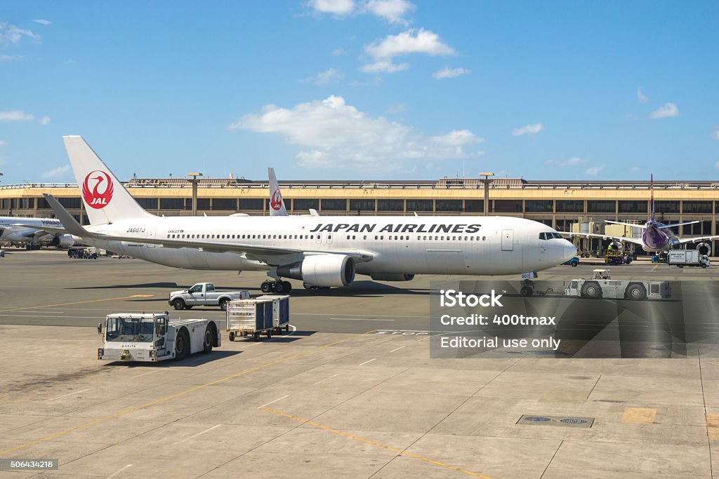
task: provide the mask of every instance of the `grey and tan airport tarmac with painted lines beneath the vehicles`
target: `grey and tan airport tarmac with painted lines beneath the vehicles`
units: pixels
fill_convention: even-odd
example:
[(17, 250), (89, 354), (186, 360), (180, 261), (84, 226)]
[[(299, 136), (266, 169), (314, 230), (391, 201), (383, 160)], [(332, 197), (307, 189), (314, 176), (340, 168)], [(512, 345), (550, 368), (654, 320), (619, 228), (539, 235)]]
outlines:
[[(481, 278), (359, 276), (313, 292), (293, 282), (287, 334), (224, 335), (209, 355), (129, 364), (96, 360), (105, 315), (170, 310), (170, 291), (202, 281), (259, 294), (264, 275), (13, 250), (0, 271), (0, 460), (60, 460), (0, 477), (719, 477), (717, 359), (431, 359), (430, 282)], [(217, 308), (170, 314), (224, 319)]]

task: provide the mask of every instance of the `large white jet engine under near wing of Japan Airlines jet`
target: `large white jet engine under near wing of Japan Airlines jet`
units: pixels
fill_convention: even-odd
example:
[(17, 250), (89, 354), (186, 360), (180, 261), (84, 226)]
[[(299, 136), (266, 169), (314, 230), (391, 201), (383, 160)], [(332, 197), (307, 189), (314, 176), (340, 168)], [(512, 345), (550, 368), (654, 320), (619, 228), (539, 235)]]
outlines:
[(277, 274), (319, 287), (347, 286), (354, 281), (354, 259), (344, 254), (307, 256), (299, 263), (280, 266)]

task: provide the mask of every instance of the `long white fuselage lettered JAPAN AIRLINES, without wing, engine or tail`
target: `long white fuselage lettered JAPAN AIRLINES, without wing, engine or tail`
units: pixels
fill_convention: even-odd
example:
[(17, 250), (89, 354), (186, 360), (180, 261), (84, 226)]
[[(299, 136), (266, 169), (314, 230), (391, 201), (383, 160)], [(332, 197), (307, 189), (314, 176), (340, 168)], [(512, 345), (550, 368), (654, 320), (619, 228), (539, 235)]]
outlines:
[[(186, 269), (266, 270), (271, 266), (232, 252), (142, 243), (167, 238), (278, 246), (301, 251), (359, 251), (359, 274), (518, 274), (572, 258), (576, 248), (553, 229), (523, 218), (477, 216), (151, 217), (94, 225), (88, 230), (131, 241), (90, 241), (157, 264)], [(207, 249), (207, 248), (205, 248)]]

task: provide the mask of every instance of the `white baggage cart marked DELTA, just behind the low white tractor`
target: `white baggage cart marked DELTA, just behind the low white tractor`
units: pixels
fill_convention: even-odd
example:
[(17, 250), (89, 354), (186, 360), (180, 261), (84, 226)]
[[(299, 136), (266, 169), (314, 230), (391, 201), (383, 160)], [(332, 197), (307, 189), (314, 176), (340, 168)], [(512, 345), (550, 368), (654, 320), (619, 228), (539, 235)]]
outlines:
[(229, 340), (240, 336), (252, 336), (257, 341), (264, 334), (272, 338), (275, 330), (273, 320), (274, 299), (241, 299), (227, 304), (226, 330)]

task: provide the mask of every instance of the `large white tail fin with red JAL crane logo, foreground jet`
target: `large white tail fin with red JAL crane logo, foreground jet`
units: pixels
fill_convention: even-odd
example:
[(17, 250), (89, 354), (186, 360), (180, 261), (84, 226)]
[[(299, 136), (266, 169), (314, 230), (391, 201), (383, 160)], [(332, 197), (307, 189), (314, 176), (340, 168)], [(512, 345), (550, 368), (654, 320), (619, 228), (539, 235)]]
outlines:
[(91, 225), (152, 216), (137, 204), (82, 136), (63, 136)]

